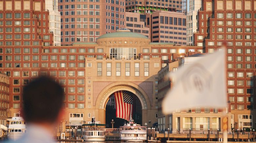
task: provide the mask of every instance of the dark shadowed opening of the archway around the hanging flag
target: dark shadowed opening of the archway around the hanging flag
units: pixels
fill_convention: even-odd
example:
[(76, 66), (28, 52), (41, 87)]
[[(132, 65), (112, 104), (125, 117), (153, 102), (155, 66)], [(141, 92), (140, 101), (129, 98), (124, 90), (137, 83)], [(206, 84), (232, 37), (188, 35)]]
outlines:
[[(129, 91), (127, 91), (129, 92)], [(139, 98), (130, 92), (131, 99), (132, 99), (132, 118), (135, 123), (142, 124), (142, 106), (139, 101)], [(106, 122), (106, 128), (112, 128), (112, 119), (114, 120), (113, 127), (119, 128), (120, 126), (123, 126), (124, 123), (127, 123), (128, 121), (122, 118), (116, 117), (116, 111), (117, 111), (117, 104), (116, 104), (116, 98), (115, 93), (111, 94), (109, 97), (106, 106), (105, 106), (105, 122)]]

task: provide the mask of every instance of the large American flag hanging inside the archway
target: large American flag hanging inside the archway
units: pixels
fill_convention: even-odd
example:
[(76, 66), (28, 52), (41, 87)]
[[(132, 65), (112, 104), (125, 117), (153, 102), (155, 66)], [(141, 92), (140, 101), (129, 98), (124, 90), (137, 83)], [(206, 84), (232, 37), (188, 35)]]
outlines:
[(120, 90), (114, 93), (116, 99), (116, 116), (117, 118), (126, 119), (129, 121), (133, 111), (133, 96), (132, 93), (125, 90)]

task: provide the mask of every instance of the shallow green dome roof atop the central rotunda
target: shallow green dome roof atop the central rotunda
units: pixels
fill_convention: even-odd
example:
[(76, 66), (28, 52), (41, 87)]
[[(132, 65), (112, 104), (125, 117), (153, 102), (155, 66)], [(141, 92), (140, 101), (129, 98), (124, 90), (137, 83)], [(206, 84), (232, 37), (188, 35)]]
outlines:
[(108, 33), (100, 36), (98, 39), (102, 38), (143, 38), (148, 39), (146, 36), (139, 34), (139, 33), (133, 33), (133, 32), (125, 32), (125, 31), (118, 31), (113, 33)]

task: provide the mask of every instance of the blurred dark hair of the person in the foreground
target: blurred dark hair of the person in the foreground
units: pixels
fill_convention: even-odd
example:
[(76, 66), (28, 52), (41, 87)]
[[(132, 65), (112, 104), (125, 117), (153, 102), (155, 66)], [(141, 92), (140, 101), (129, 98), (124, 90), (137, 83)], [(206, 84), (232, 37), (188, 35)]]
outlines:
[(50, 77), (39, 77), (23, 90), (23, 112), (27, 122), (54, 122), (62, 106), (63, 90)]

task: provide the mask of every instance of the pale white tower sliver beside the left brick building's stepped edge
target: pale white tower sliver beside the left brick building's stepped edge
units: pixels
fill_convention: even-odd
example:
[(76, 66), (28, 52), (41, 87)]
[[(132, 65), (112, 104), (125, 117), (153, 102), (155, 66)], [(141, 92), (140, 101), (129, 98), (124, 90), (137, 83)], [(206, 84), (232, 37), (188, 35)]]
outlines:
[(45, 0), (45, 8), (49, 10), (49, 30), (53, 33), (53, 45), (60, 46), (60, 12), (58, 0)]

